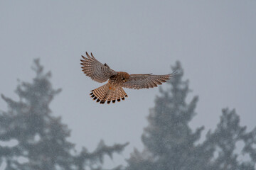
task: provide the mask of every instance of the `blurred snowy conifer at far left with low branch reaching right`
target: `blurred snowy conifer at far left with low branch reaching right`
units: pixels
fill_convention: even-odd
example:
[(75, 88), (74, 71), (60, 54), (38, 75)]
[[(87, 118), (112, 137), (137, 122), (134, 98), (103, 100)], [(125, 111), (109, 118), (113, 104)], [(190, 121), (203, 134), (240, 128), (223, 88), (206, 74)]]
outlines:
[(68, 126), (49, 108), (61, 90), (53, 89), (50, 72), (43, 72), (39, 60), (35, 60), (33, 70), (33, 82), (22, 82), (15, 91), (19, 101), (1, 95), (8, 111), (0, 113), (0, 141), (18, 144), (0, 145), (0, 166), (5, 161), (6, 170), (102, 169), (105, 154), (112, 157), (114, 152), (122, 152), (127, 144), (108, 147), (101, 141), (95, 152), (83, 148), (74, 154), (74, 144), (67, 140)]

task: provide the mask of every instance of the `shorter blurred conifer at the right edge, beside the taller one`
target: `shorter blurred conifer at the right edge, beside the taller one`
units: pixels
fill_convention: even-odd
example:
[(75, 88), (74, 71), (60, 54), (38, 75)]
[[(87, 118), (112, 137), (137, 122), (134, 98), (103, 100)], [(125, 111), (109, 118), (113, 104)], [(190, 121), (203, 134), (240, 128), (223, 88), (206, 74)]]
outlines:
[[(213, 133), (208, 132), (206, 143), (214, 146), (215, 157), (209, 169), (254, 170), (256, 168), (256, 128), (246, 132), (246, 126), (240, 125), (235, 110), (223, 109), (220, 123)], [(240, 143), (241, 152), (238, 152)], [(241, 157), (247, 154), (246, 159)], [(239, 158), (240, 157), (240, 158)]]

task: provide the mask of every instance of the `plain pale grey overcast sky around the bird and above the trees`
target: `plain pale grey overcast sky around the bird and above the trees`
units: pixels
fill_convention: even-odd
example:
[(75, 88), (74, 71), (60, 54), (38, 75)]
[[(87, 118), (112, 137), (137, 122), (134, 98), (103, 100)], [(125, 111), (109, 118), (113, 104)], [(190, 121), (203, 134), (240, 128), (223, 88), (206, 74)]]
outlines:
[[(17, 79), (31, 81), (40, 58), (62, 88), (50, 108), (72, 130), (76, 148), (90, 151), (130, 142), (106, 167), (124, 164), (143, 149), (146, 116), (159, 89), (124, 89), (129, 98), (100, 105), (90, 90), (102, 86), (82, 73), (80, 55), (130, 74), (168, 74), (181, 61), (198, 113), (192, 128), (215, 128), (222, 108), (256, 126), (256, 1), (0, 1), (0, 94), (14, 94)], [(162, 85), (165, 89), (166, 84)], [(0, 98), (0, 109), (6, 103)], [(203, 134), (203, 135), (204, 135)]]

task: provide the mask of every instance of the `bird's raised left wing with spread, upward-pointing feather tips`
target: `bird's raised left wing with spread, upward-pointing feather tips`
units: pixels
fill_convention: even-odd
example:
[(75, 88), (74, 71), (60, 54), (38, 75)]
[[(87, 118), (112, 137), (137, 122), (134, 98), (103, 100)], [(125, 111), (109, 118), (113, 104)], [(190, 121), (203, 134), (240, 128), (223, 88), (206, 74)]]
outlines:
[(83, 60), (81, 60), (82, 64), (82, 72), (84, 72), (88, 77), (97, 81), (97, 82), (104, 82), (107, 79), (110, 79), (112, 75), (116, 75), (117, 72), (110, 69), (107, 64), (102, 64), (95, 57), (92, 55), (88, 55), (86, 52), (87, 57), (82, 56)]

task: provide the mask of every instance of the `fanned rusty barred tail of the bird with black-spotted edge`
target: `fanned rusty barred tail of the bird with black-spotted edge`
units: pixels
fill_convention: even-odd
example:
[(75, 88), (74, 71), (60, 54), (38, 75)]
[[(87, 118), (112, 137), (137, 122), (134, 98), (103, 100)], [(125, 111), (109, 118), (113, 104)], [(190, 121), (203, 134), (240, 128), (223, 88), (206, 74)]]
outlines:
[(100, 86), (97, 89), (92, 90), (92, 92), (90, 93), (90, 96), (92, 97), (93, 100), (96, 100), (101, 104), (104, 104), (106, 101), (108, 104), (111, 101), (112, 103), (115, 103), (115, 101), (119, 102), (121, 101), (121, 99), (124, 100), (124, 97), (128, 97), (121, 86), (113, 89), (113, 88), (110, 88), (109, 84), (105, 84), (103, 86)]

